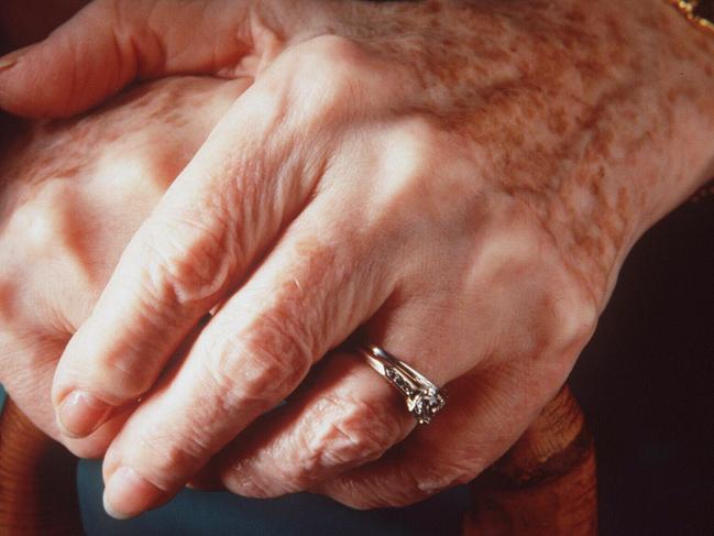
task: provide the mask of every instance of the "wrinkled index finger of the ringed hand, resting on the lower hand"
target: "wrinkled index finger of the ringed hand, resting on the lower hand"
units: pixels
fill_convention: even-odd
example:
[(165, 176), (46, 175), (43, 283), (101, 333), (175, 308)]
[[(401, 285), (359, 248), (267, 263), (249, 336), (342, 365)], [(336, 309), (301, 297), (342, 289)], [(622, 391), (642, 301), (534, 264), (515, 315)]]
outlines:
[[(249, 89), (132, 238), (57, 368), (53, 403), (67, 435), (88, 435), (146, 392), (297, 212), (310, 177), (273, 156), (283, 122), (275, 96)], [(245, 156), (254, 147), (261, 162)]]

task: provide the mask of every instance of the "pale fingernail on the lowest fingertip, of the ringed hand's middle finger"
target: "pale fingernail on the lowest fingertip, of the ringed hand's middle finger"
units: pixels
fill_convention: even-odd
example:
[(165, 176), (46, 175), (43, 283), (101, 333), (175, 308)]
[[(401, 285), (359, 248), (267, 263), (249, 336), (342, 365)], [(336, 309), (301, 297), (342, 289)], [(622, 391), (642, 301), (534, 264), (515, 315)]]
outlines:
[(164, 492), (149, 483), (130, 467), (120, 467), (109, 478), (102, 501), (105, 511), (114, 519), (129, 519), (154, 507)]

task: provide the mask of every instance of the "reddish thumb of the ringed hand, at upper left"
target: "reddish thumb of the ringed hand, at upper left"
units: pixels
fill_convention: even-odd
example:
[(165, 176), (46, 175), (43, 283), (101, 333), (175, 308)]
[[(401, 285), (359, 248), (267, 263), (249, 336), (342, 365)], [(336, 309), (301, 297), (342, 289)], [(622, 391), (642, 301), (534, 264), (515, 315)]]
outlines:
[(0, 108), (67, 117), (136, 78), (230, 73), (252, 51), (248, 20), (244, 0), (97, 0), (44, 41), (0, 58)]

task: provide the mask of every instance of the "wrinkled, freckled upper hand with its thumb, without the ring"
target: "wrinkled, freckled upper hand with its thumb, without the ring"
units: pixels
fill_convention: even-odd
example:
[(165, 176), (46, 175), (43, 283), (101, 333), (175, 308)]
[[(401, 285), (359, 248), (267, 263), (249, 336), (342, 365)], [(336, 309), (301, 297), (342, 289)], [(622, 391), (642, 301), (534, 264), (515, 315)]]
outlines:
[[(0, 106), (23, 114), (136, 76), (254, 78), (61, 359), (65, 436), (111, 440), (108, 510), (191, 478), (370, 507), (475, 477), (562, 385), (634, 241), (714, 171), (707, 39), (655, 0), (102, 1), (18, 56)], [(447, 385), (432, 425), (352, 348), (314, 367), (360, 326)]]

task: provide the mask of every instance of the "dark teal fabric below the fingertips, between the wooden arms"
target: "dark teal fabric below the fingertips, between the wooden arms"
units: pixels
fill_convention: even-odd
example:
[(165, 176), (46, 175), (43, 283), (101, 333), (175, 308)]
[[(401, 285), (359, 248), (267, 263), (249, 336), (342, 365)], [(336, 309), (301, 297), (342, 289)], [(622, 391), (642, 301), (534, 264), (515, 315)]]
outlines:
[(307, 493), (252, 500), (184, 490), (162, 508), (119, 522), (103, 512), (99, 462), (80, 462), (78, 484), (89, 536), (449, 536), (460, 534), (468, 508), (465, 486), (407, 508), (366, 512)]

